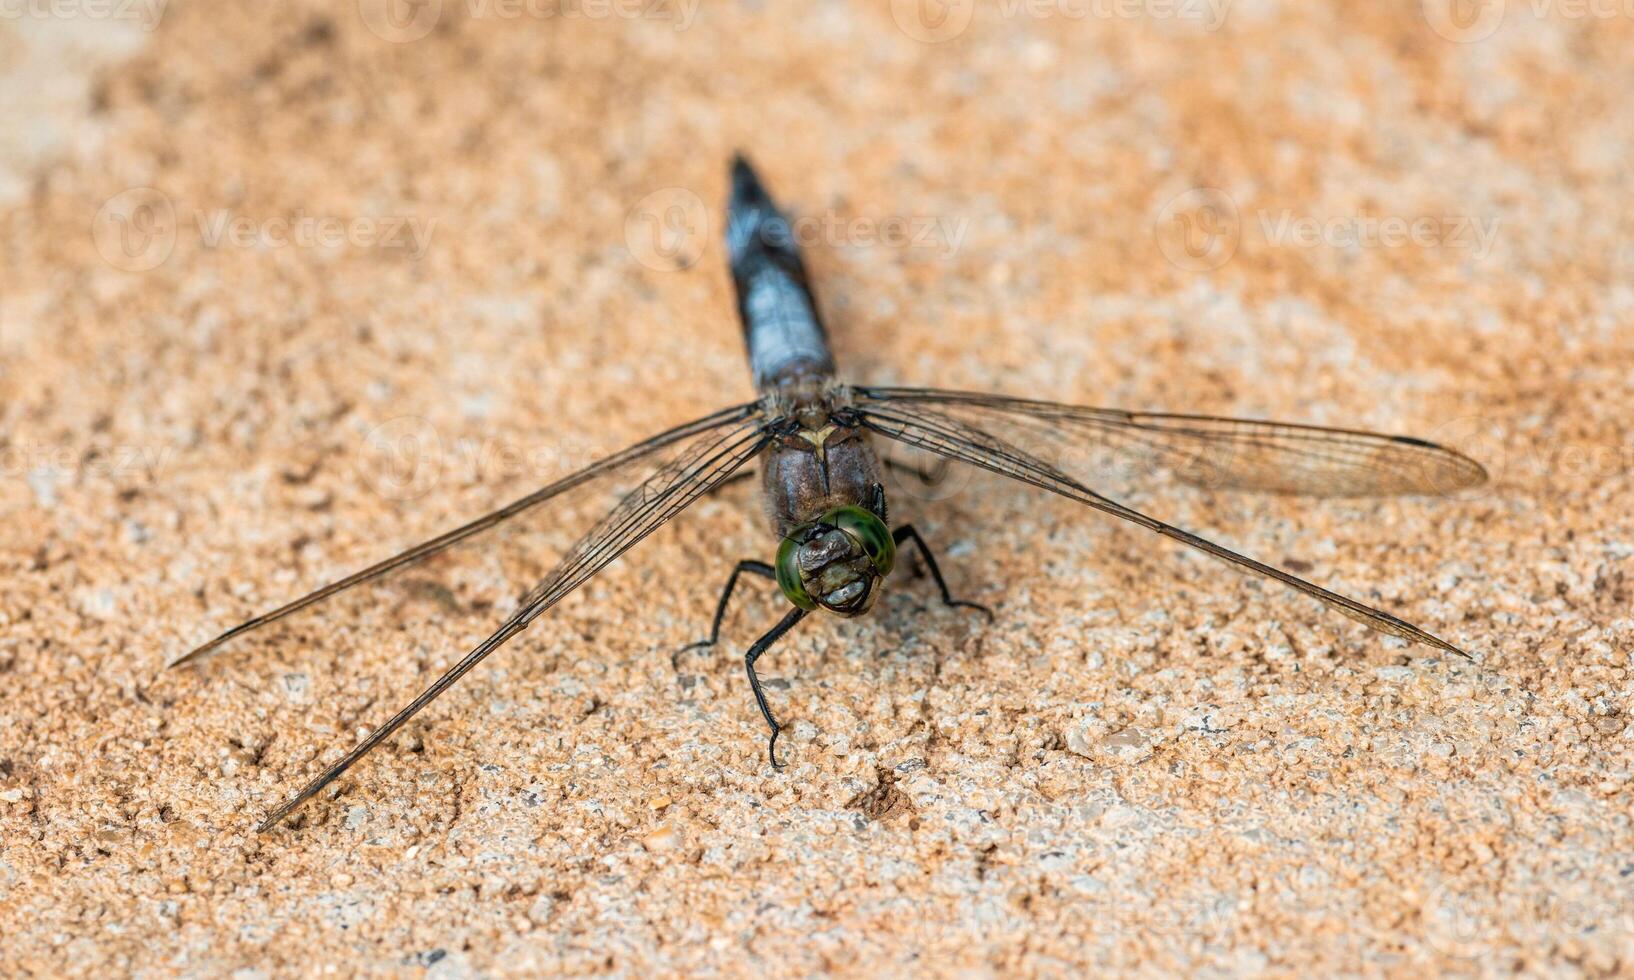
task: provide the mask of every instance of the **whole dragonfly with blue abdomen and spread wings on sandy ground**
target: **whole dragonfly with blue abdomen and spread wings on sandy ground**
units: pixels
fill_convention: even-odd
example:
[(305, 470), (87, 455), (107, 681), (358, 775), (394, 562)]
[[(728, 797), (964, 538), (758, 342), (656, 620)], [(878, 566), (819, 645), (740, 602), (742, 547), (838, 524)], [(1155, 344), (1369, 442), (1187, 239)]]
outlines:
[(729, 603), (745, 577), (776, 583), (788, 599), (788, 611), (748, 647), (743, 668), (755, 706), (770, 730), (766, 756), (775, 769), (783, 768), (776, 748), (783, 727), (761, 688), (757, 663), (814, 612), (842, 617), (868, 612), (897, 567), (899, 552), (912, 547), (944, 604), (992, 617), (985, 606), (953, 596), (930, 544), (913, 524), (892, 528), (884, 480), (892, 457), (882, 457), (876, 441), (1057, 493), (1243, 572), (1279, 581), (1374, 630), (1469, 658), (1464, 650), (1384, 609), (1121, 503), (1095, 490), (1083, 467), (1070, 461), (1082, 461), (1087, 452), (1111, 452), (1137, 459), (1180, 483), (1208, 490), (1320, 497), (1448, 495), (1485, 482), (1487, 472), (1476, 461), (1410, 436), (1209, 415), (1124, 412), (985, 392), (846, 384), (840, 381), (792, 232), (788, 214), (768, 194), (750, 163), (737, 155), (730, 168), (725, 255), (758, 395), (755, 400), (721, 408), (601, 457), (497, 511), (234, 626), (172, 665), (196, 663), (243, 634), (420, 564), (523, 514), (538, 514), (570, 490), (609, 479), (632, 487), (562, 554), (492, 635), (273, 808), (258, 831), (275, 828), (485, 657), (696, 500), (730, 480), (753, 475), (752, 469), (745, 469), (750, 464), (758, 464), (765, 521), (778, 542), (775, 559), (745, 559), (732, 568), (708, 639), (686, 650), (719, 642)]

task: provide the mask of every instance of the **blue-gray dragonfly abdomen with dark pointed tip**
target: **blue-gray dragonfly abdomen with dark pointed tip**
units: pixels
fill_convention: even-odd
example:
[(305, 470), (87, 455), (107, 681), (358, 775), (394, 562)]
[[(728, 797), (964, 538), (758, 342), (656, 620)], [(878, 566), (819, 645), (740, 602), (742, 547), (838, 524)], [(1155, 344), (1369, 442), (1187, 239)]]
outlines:
[(828, 335), (817, 315), (789, 219), (747, 160), (732, 160), (725, 248), (737, 286), (755, 389), (833, 376)]

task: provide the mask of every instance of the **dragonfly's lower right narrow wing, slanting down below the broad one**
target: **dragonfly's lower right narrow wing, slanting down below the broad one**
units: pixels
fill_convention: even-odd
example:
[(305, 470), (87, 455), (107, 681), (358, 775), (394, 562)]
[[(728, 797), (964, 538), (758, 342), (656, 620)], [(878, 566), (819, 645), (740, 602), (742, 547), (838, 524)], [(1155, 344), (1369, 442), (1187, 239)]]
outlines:
[(1467, 653), (1446, 640), (1431, 635), (1404, 619), (1384, 612), (1382, 609), (1374, 609), (1373, 606), (1358, 603), (1348, 596), (1312, 585), (1297, 575), (1240, 555), (1227, 547), (1214, 544), (1212, 541), (1198, 537), (1196, 534), (1172, 524), (1165, 524), (1157, 518), (1147, 516), (1118, 503), (1116, 500), (1103, 497), (1083, 483), (1078, 483), (1054, 466), (1023, 449), (1018, 449), (1016, 446), (1011, 446), (1005, 439), (954, 418), (949, 413), (943, 413), (938, 408), (931, 408), (925, 400), (884, 400), (863, 403), (858, 407), (858, 413), (863, 416), (868, 428), (891, 439), (917, 446), (948, 459), (979, 466), (995, 474), (1021, 480), (1023, 483), (1042, 487), (1044, 490), (1051, 490), (1101, 513), (1141, 524), (1149, 531), (1172, 537), (1181, 544), (1214, 555), (1216, 559), (1237, 565), (1239, 568), (1247, 568), (1255, 575), (1275, 578), (1276, 581), (1320, 599), (1345, 616), (1350, 616), (1351, 619), (1379, 632), (1387, 632), (1391, 635), (1402, 637), (1404, 640), (1448, 650), (1449, 653), (1458, 653), (1466, 660), (1471, 658)]

